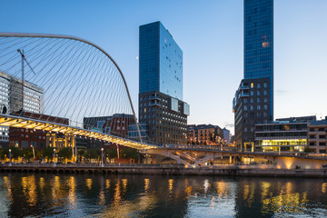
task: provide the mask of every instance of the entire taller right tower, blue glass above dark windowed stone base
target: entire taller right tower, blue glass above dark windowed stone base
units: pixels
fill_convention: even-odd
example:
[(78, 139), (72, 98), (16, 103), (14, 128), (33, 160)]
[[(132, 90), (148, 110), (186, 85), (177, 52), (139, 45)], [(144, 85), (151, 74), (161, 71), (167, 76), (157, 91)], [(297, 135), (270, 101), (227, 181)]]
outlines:
[(273, 119), (273, 0), (244, 0), (243, 80), (233, 99), (235, 144), (254, 148), (254, 125)]

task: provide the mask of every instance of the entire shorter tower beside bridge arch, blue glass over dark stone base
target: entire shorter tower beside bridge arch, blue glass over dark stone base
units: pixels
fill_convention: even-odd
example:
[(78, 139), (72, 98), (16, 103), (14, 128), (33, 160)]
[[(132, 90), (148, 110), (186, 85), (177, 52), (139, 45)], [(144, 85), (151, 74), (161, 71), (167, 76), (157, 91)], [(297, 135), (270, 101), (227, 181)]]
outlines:
[(139, 120), (157, 144), (185, 144), (183, 52), (161, 24), (140, 26)]

